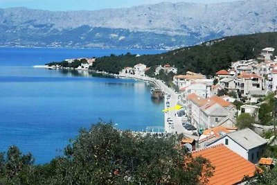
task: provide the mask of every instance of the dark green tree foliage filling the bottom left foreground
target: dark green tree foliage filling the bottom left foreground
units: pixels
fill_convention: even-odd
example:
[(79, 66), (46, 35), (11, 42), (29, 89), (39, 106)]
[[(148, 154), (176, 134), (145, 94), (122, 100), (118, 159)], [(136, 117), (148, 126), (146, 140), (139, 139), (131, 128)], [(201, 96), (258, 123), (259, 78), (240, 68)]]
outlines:
[(33, 165), (18, 148), (0, 155), (3, 184), (200, 184), (213, 166), (179, 147), (182, 136), (143, 136), (116, 130), (111, 123), (82, 129), (64, 157)]

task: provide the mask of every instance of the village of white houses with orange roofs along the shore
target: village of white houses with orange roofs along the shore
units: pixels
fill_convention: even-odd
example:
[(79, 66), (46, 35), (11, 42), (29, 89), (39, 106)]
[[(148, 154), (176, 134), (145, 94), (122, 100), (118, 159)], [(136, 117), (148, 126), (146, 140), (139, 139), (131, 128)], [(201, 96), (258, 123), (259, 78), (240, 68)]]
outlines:
[[(255, 177), (276, 164), (273, 157), (265, 157), (267, 148), (276, 146), (275, 107), (267, 113), (271, 116), (268, 123), (259, 116), (260, 109), (269, 104), (269, 96), (277, 100), (273, 53), (273, 48), (262, 49), (258, 58), (232, 62), (213, 78), (191, 71), (177, 75), (174, 66), (157, 66), (155, 75), (175, 73), (172, 82), (179, 91), (146, 76), (149, 68), (145, 64), (125, 67), (119, 76), (153, 82), (164, 92), (165, 132), (184, 134), (181, 145), (193, 157), (211, 161), (215, 171), (208, 184), (243, 184), (244, 177)], [(167, 109), (175, 105), (182, 109)], [(239, 125), (242, 117), (253, 123)]]

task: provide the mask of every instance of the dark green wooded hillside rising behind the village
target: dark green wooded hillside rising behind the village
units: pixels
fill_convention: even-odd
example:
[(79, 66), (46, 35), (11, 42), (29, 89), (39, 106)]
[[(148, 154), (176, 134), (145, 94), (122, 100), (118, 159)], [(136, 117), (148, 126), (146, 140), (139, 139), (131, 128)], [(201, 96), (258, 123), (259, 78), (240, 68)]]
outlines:
[(133, 67), (138, 63), (146, 64), (148, 67), (168, 63), (175, 65), (178, 73), (195, 71), (213, 76), (220, 69), (228, 69), (231, 62), (256, 58), (265, 47), (277, 49), (277, 33), (225, 37), (159, 55), (142, 55), (139, 58), (129, 53), (111, 55), (98, 58), (92, 69), (118, 73), (123, 67)]

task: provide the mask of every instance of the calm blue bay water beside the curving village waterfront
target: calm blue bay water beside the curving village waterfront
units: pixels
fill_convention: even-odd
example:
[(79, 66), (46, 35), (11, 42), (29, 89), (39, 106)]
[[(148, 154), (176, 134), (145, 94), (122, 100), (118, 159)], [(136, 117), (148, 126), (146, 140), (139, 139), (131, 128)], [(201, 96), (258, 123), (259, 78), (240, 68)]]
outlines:
[(163, 104), (152, 102), (150, 85), (145, 82), (31, 67), (66, 58), (127, 52), (0, 48), (0, 151), (16, 145), (33, 153), (36, 163), (41, 164), (61, 155), (60, 150), (80, 127), (89, 127), (99, 118), (113, 121), (123, 130), (162, 126)]

